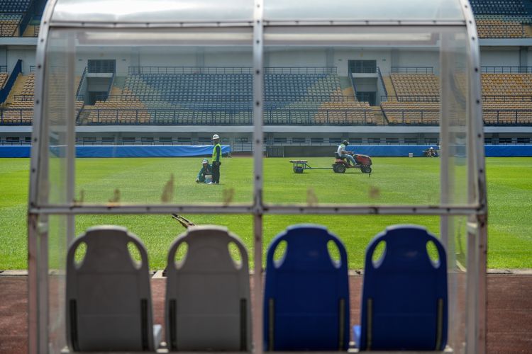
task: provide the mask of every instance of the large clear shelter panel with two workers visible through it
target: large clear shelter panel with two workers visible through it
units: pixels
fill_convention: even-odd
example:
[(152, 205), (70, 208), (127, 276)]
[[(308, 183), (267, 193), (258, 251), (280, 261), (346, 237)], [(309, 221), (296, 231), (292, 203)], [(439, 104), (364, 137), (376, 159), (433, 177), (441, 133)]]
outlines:
[[(45, 86), (50, 202), (227, 205), (253, 200), (251, 159), (228, 158), (250, 152), (250, 29), (155, 32), (50, 32)], [(77, 145), (71, 172), (65, 136), (70, 119)], [(205, 181), (217, 182), (214, 149), (221, 185), (211, 188)]]

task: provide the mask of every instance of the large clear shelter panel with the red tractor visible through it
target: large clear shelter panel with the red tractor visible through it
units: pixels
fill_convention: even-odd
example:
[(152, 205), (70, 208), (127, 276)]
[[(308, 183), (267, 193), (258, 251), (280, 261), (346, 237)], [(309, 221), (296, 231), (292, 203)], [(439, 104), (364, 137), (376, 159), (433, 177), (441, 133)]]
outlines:
[(458, 27), (265, 28), (265, 202), (467, 204), (465, 38)]

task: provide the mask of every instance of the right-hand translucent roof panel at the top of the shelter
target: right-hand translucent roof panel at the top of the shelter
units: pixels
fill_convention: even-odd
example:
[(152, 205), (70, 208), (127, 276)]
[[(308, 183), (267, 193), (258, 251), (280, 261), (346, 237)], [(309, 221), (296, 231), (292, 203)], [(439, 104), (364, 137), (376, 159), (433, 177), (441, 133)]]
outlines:
[[(297, 15), (294, 15), (297, 14)], [(298, 1), (265, 1), (267, 21), (461, 21), (462, 8), (458, 0), (375, 0), (360, 1), (309, 0), (304, 6)]]

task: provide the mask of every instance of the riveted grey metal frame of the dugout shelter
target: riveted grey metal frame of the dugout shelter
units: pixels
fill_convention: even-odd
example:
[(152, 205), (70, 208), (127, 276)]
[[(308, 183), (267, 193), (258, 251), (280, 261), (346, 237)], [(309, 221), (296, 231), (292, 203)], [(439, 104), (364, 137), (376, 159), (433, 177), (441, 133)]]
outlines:
[[(126, 4), (128, 1), (114, 0)], [(253, 340), (254, 352), (262, 353), (262, 217), (263, 215), (438, 215), (440, 216), (440, 231), (444, 238), (448, 234), (445, 219), (450, 216), (467, 217), (467, 314), (465, 323), (467, 353), (485, 353), (486, 350), (486, 265), (487, 265), (487, 196), (484, 169), (484, 135), (482, 132), (482, 103), (480, 86), (480, 51), (478, 47), (477, 31), (472, 9), (467, 0), (455, 0), (462, 10), (460, 21), (401, 21), (401, 20), (378, 20), (378, 21), (334, 21), (334, 20), (276, 20), (267, 18), (264, 11), (265, 0), (255, 0), (253, 4), (253, 18), (249, 21), (164, 21), (161, 23), (149, 23), (146, 21), (121, 21), (120, 18), (112, 20), (112, 16), (97, 18), (84, 18), (83, 14), (73, 18), (55, 18), (57, 4), (68, 1), (50, 0), (43, 14), (35, 67), (35, 108), (33, 119), (33, 137), (31, 152), (31, 182), (28, 204), (28, 330), (29, 330), (29, 353), (48, 353), (48, 313), (49, 313), (49, 255), (48, 255), (48, 217), (50, 215), (64, 215), (67, 218), (67, 241), (70, 241), (74, 233), (74, 215), (87, 214), (172, 214), (172, 213), (198, 213), (198, 214), (248, 214), (253, 215), (254, 232), (254, 257), (255, 273), (254, 282), (254, 307), (253, 307)], [(266, 0), (267, 1), (267, 0)], [(75, 2), (75, 1), (70, 1)], [(97, 1), (96, 1), (97, 2)], [(113, 0), (109, 1), (113, 2)], [(136, 1), (139, 2), (139, 1)], [(147, 1), (150, 2), (150, 1)], [(238, 1), (236, 1), (238, 2)], [(418, 1), (419, 2), (419, 1)], [(421, 1), (423, 2), (423, 1)], [(420, 4), (421, 4), (420, 2)], [(94, 8), (98, 8), (94, 5)], [(112, 15), (112, 14), (110, 14)], [(294, 15), (297, 16), (297, 15)], [(74, 201), (74, 160), (75, 160), (75, 122), (67, 122), (67, 140), (65, 149), (65, 161), (67, 169), (67, 202), (65, 204), (53, 204), (47, 199), (48, 178), (48, 118), (45, 113), (45, 77), (46, 55), (51, 28), (73, 28), (83, 30), (91, 29), (135, 29), (150, 31), (154, 28), (217, 28), (224, 27), (253, 27), (253, 202), (247, 204), (229, 205), (79, 205)], [(453, 205), (445, 200), (445, 188), (448, 186), (448, 176), (440, 175), (441, 200), (437, 205), (273, 205), (263, 202), (263, 57), (265, 51), (265, 30), (275, 26), (297, 28), (300, 26), (323, 27), (349, 27), (355, 31), (359, 28), (372, 28), (374, 26), (399, 28), (401, 26), (426, 26), (444, 28), (445, 26), (460, 26), (467, 30), (467, 71), (470, 89), (469, 97), (466, 98), (468, 114), (471, 119), (467, 121), (467, 164), (468, 194), (467, 205)], [(67, 60), (73, 61), (73, 55)], [(67, 74), (70, 74), (67, 72)], [(73, 87), (67, 87), (68, 95), (72, 95)], [(71, 101), (70, 111), (74, 111), (74, 99)], [(443, 105), (443, 103), (442, 103)], [(443, 109), (443, 108), (442, 108)], [(443, 112), (442, 112), (443, 113)], [(448, 122), (442, 114), (440, 135), (448, 135)], [(447, 139), (441, 140), (442, 155), (448, 154), (450, 147)], [(440, 169), (448, 169), (448, 161), (441, 159)], [(476, 169), (476, 171), (471, 171)], [(452, 326), (452, 324), (450, 324)]]

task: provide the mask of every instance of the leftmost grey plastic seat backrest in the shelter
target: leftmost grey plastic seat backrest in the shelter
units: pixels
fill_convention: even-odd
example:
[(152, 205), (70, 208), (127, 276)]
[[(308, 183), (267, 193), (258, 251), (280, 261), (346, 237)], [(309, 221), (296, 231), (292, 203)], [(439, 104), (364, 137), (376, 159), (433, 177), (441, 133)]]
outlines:
[[(87, 250), (77, 263), (81, 244)], [(128, 244), (140, 253), (138, 264)], [(67, 253), (67, 341), (73, 351), (155, 350), (148, 254), (123, 227), (92, 227)]]

